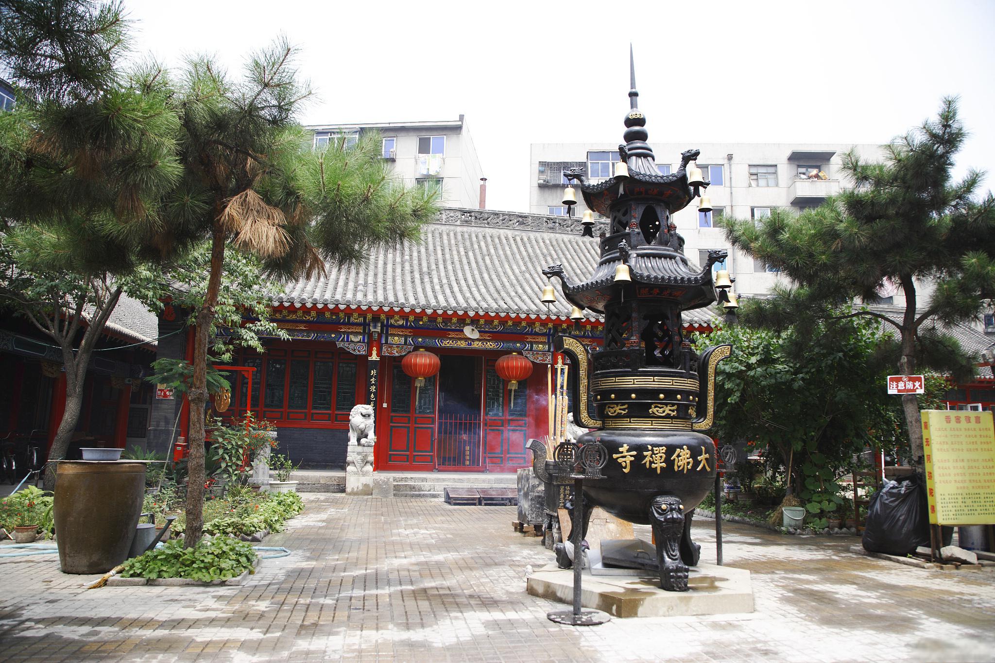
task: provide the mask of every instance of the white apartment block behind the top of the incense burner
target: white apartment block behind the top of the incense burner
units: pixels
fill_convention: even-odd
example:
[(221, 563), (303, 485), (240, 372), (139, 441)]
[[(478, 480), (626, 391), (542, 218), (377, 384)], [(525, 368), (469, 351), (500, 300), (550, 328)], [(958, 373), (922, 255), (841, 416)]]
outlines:
[[(674, 215), (678, 232), (685, 238), (685, 254), (692, 260), (707, 255), (708, 249), (728, 249), (729, 257), (716, 269), (727, 268), (736, 278), (740, 295), (756, 296), (770, 292), (781, 276), (770, 267), (743, 252), (731, 249), (716, 220), (723, 216), (757, 219), (774, 208), (802, 210), (817, 207), (827, 196), (848, 186), (842, 169), (843, 154), (855, 148), (863, 157), (881, 158), (878, 145), (777, 144), (777, 143), (651, 143), (661, 174), (681, 167), (681, 153), (699, 149), (697, 165), (711, 182), (708, 195), (712, 212), (699, 213), (697, 204)], [(584, 143), (533, 143), (529, 212), (564, 215), (563, 171), (583, 168), (588, 180), (612, 177), (619, 161), (617, 145)], [(586, 210), (578, 196), (574, 215)], [(700, 258), (703, 261), (703, 257)], [(883, 303), (904, 305), (900, 293), (887, 292)], [(889, 299), (891, 297), (891, 299)]]

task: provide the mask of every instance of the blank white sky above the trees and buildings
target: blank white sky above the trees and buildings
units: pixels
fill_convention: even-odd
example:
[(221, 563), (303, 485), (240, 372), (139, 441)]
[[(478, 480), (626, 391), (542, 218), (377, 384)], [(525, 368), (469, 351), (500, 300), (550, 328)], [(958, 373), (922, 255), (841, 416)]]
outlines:
[(884, 143), (956, 94), (958, 174), (995, 170), (990, 0), (126, 6), (136, 50), (170, 66), (203, 52), (235, 73), (283, 33), (317, 92), (304, 123), (466, 114), (497, 210), (528, 209), (529, 143), (621, 142), (630, 41), (651, 143)]

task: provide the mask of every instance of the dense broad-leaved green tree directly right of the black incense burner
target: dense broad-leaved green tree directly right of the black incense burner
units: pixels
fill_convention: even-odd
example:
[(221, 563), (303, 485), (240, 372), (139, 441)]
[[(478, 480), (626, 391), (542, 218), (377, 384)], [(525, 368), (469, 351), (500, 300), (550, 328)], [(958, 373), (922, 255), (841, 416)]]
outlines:
[[(744, 304), (745, 306), (745, 304)], [(882, 381), (888, 343), (877, 320), (819, 322), (778, 331), (725, 325), (697, 344), (731, 343), (716, 369), (713, 433), (748, 440), (787, 469), (789, 492), (810, 513), (835, 512), (836, 479), (855, 453), (880, 448), (896, 421), (896, 402)]]

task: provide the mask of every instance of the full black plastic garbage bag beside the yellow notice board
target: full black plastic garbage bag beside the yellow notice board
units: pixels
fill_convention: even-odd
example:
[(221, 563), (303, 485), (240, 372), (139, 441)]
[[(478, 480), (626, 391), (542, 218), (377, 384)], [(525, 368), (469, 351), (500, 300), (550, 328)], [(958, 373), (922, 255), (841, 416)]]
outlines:
[(885, 486), (871, 497), (863, 543), (866, 551), (899, 556), (929, 546), (929, 513), (921, 476), (885, 480)]

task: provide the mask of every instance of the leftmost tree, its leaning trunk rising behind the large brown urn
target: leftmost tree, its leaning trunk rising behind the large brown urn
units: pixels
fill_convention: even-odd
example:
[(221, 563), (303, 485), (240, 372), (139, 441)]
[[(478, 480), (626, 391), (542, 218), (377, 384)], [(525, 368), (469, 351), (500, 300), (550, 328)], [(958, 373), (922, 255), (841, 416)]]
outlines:
[[(121, 293), (147, 299), (157, 285), (141, 243), (182, 172), (164, 90), (117, 72), (124, 29), (118, 3), (0, 3), (0, 59), (19, 85), (15, 109), (0, 113), (0, 305), (62, 352), (52, 458), (65, 456)], [(50, 469), (46, 487), (54, 481)]]

